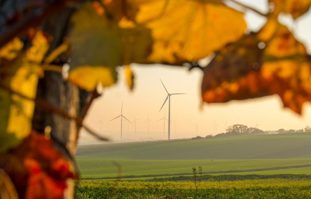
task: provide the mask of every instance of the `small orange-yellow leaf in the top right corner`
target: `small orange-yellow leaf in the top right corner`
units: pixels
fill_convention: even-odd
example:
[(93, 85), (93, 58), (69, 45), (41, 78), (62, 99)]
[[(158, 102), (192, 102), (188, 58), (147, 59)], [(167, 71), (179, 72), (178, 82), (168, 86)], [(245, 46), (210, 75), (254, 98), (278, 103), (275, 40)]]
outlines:
[(311, 0), (269, 0), (269, 2), (274, 3), (274, 13), (289, 13), (294, 19), (307, 12), (311, 6)]

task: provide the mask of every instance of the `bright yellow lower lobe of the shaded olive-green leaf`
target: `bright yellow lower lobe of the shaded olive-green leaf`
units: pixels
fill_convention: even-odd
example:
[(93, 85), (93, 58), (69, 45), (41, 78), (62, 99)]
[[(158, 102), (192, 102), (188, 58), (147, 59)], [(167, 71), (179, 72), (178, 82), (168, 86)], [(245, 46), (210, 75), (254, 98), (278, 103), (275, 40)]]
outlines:
[(88, 91), (94, 90), (98, 84), (105, 87), (115, 82), (111, 69), (101, 66), (77, 67), (69, 73), (68, 80)]

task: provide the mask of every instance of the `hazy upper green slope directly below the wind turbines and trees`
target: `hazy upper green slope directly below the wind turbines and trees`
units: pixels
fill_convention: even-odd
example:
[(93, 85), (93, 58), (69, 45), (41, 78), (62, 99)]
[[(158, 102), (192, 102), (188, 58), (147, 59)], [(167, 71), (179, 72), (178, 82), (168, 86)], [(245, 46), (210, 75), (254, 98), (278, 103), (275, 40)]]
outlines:
[(239, 136), (79, 147), (77, 158), (104, 160), (242, 160), (311, 158), (311, 133)]

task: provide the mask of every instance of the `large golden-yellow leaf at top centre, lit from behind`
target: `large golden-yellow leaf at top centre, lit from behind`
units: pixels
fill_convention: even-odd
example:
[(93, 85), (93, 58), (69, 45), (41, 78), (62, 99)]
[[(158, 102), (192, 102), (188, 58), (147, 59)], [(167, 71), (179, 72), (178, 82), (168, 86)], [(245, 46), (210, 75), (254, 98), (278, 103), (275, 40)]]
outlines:
[(150, 28), (154, 39), (149, 62), (179, 64), (205, 58), (239, 39), (246, 28), (243, 13), (220, 1), (138, 1), (138, 8), (137, 22)]

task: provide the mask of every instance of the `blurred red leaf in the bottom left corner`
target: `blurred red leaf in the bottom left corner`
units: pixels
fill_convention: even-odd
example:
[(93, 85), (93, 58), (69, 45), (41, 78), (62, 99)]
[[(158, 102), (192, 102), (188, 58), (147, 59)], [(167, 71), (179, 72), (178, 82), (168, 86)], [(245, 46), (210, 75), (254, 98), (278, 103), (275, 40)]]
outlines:
[[(7, 156), (5, 170), (20, 198), (63, 198), (66, 179), (75, 175), (63, 155), (46, 140), (44, 134), (28, 133)], [(38, 150), (39, 149), (39, 150)]]

